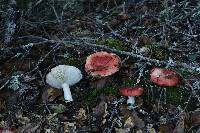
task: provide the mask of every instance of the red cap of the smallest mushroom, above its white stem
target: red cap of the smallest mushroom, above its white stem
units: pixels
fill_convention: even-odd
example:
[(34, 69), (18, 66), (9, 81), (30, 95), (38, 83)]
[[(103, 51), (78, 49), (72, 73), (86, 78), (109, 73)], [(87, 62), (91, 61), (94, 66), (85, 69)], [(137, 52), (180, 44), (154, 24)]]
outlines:
[(120, 89), (120, 93), (123, 96), (140, 96), (144, 89), (141, 86), (124, 87)]

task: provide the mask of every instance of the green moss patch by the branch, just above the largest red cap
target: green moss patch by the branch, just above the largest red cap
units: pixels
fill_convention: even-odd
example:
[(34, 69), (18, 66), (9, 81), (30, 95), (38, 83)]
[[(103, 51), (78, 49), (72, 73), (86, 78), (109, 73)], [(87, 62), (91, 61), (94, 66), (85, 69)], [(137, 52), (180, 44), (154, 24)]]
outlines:
[(127, 50), (127, 48), (125, 47), (124, 43), (120, 40), (116, 40), (116, 39), (100, 39), (97, 40), (96, 42), (97, 45), (105, 45), (108, 46), (110, 48), (114, 48), (116, 50)]

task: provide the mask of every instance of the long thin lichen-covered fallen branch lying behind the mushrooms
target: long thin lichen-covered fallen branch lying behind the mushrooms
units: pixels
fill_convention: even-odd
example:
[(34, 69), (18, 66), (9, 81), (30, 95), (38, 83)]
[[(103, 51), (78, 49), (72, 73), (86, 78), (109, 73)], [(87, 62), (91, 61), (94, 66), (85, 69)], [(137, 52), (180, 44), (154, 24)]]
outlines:
[[(30, 36), (31, 38), (34, 38), (34, 36)], [(38, 37), (36, 37), (38, 38)], [(106, 51), (110, 51), (110, 52), (114, 52), (114, 53), (117, 53), (118, 55), (124, 55), (124, 56), (129, 56), (129, 57), (132, 57), (132, 58), (136, 58), (136, 59), (139, 59), (141, 61), (145, 61), (147, 63), (153, 63), (155, 65), (166, 65), (166, 66), (173, 66), (173, 67), (181, 67), (181, 68), (184, 68), (184, 69), (188, 69), (188, 70), (192, 70), (192, 71), (195, 71), (195, 72), (198, 72), (200, 73), (200, 66), (192, 66), (191, 64), (187, 64), (187, 63), (183, 63), (183, 62), (177, 62), (177, 61), (173, 61), (173, 62), (170, 62), (170, 61), (160, 61), (160, 60), (157, 60), (157, 59), (152, 59), (152, 58), (149, 58), (149, 57), (145, 57), (145, 56), (142, 56), (142, 55), (138, 55), (138, 54), (135, 54), (133, 52), (127, 52), (127, 51), (121, 51), (121, 50), (116, 50), (116, 49), (113, 49), (113, 48), (109, 48), (107, 46), (104, 46), (104, 45), (97, 45), (95, 44), (95, 39), (93, 40), (89, 40), (89, 39), (86, 39), (86, 38), (64, 38), (62, 40), (48, 40), (46, 38), (42, 38), (40, 37), (40, 40), (41, 42), (38, 42), (38, 43), (29, 43), (27, 45), (21, 45), (20, 47), (18, 48), (8, 48), (7, 50), (19, 50), (21, 48), (28, 48), (30, 47), (30, 44), (31, 44), (31, 47), (32, 46), (40, 46), (40, 45), (44, 45), (44, 44), (64, 44), (65, 46), (69, 46), (69, 45), (74, 45), (74, 46), (79, 46), (79, 47), (89, 47), (89, 48), (94, 48), (94, 49), (98, 49), (98, 50), (106, 50)], [(2, 49), (2, 50), (5, 50), (5, 49)], [(170, 64), (169, 64), (170, 62)]]

